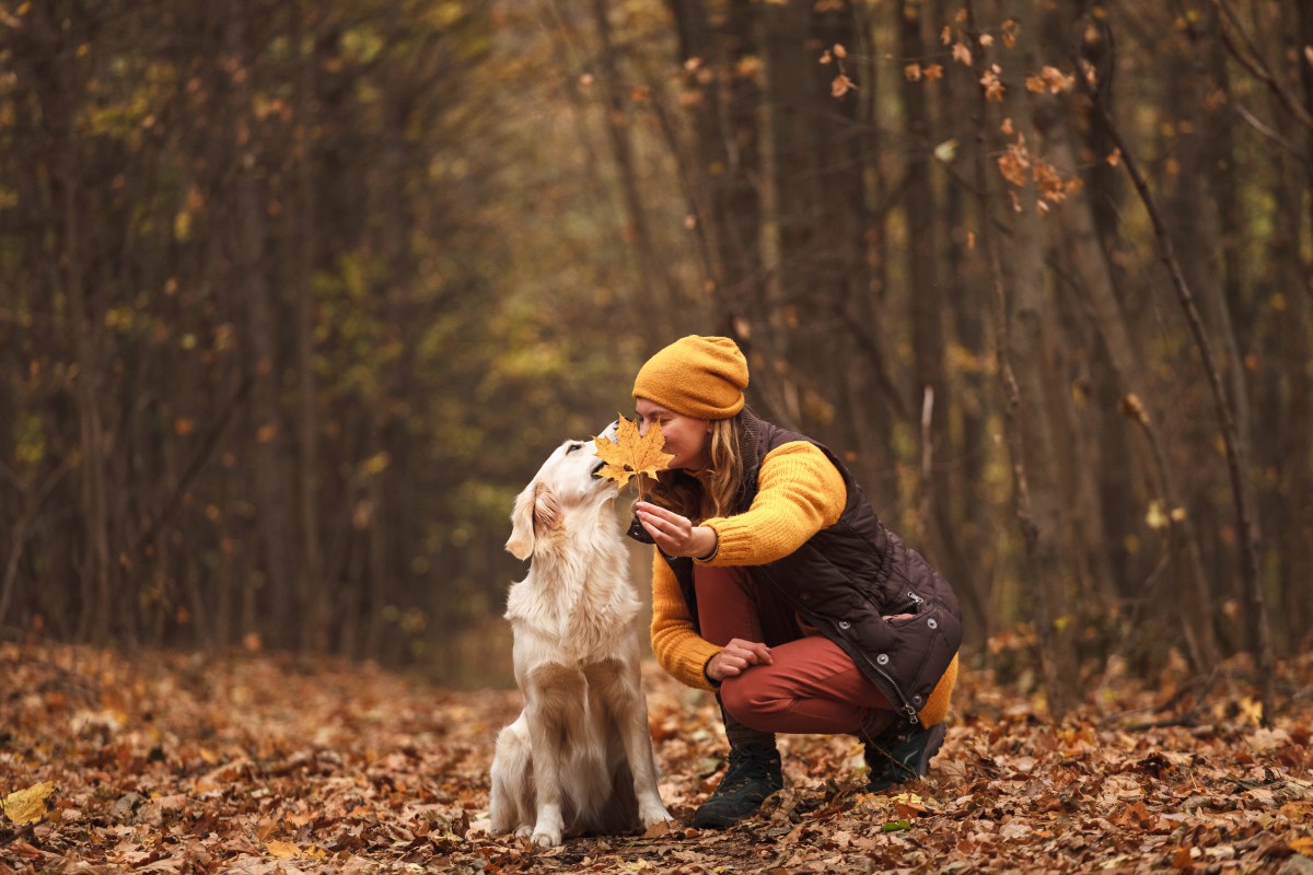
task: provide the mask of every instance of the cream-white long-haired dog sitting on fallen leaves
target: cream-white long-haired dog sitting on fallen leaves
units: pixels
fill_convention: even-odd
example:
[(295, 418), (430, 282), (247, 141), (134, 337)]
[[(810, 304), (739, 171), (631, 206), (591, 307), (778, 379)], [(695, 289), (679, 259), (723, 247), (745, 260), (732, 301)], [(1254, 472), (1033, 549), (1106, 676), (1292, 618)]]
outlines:
[(595, 443), (567, 441), (515, 501), (506, 548), (533, 556), (511, 586), (524, 710), (492, 760), (491, 821), (536, 845), (566, 829), (613, 833), (670, 820), (656, 791), (634, 619), (612, 480)]

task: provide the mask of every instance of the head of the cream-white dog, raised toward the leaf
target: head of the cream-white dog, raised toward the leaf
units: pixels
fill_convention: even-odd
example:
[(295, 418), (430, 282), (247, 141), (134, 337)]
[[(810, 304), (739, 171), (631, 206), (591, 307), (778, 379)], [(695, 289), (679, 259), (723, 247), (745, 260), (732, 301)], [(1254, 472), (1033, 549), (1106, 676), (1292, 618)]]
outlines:
[(565, 533), (569, 513), (614, 499), (616, 483), (596, 476), (601, 466), (592, 441), (566, 441), (558, 446), (516, 496), (506, 548), (516, 559), (528, 559), (540, 542)]

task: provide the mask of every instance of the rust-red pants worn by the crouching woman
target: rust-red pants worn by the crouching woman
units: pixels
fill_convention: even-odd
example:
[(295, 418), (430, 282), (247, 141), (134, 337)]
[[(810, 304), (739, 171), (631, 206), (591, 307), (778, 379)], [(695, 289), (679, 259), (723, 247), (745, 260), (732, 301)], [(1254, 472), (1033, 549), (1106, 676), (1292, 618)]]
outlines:
[(771, 648), (773, 664), (748, 666), (721, 683), (731, 743), (735, 733), (758, 743), (775, 732), (873, 733), (893, 722), (889, 699), (838, 644), (805, 635), (769, 584), (758, 585), (743, 568), (696, 565), (693, 586), (702, 638), (722, 647), (741, 638)]

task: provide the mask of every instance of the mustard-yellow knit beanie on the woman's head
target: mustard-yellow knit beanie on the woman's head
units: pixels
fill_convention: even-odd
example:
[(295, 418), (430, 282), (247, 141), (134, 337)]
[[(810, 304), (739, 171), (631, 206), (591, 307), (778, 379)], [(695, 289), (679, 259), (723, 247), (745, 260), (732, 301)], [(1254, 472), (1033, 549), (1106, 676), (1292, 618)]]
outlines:
[(680, 337), (638, 369), (634, 397), (699, 420), (727, 420), (743, 409), (747, 359), (729, 337)]

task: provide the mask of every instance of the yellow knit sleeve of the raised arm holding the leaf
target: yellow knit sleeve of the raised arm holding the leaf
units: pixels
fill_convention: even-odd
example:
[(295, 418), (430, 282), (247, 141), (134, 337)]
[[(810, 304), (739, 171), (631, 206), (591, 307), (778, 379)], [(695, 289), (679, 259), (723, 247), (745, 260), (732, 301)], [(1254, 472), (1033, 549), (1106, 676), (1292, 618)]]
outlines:
[(762, 459), (752, 506), (702, 525), (716, 530), (712, 565), (762, 565), (788, 556), (832, 526), (848, 502), (843, 475), (813, 443), (794, 441)]

